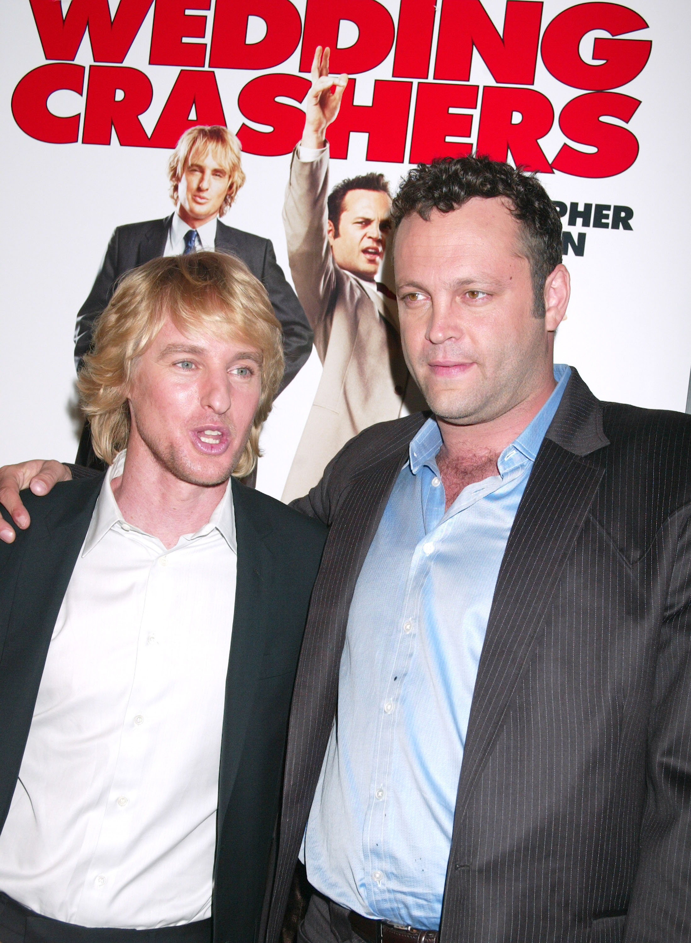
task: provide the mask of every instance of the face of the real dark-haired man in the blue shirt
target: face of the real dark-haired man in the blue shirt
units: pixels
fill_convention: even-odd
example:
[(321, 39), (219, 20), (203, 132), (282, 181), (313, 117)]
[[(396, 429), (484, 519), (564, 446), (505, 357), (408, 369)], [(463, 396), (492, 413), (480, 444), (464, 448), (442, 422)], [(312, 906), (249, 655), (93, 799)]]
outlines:
[(551, 273), (546, 317), (536, 318), (520, 223), (502, 198), (434, 210), (429, 222), (405, 217), (394, 259), (403, 352), (437, 417), (491, 422), (553, 384), (553, 332), (566, 310), (568, 273), (564, 266)]

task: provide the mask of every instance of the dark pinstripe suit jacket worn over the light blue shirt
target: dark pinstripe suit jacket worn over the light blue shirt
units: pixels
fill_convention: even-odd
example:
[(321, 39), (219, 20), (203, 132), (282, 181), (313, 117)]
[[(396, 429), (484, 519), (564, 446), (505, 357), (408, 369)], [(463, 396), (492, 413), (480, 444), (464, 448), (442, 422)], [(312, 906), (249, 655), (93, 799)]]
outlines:
[[(421, 414), (354, 438), (293, 695), (268, 939), (337, 704), (355, 581)], [(443, 943), (691, 939), (691, 419), (573, 372), (502, 560), (458, 784)]]

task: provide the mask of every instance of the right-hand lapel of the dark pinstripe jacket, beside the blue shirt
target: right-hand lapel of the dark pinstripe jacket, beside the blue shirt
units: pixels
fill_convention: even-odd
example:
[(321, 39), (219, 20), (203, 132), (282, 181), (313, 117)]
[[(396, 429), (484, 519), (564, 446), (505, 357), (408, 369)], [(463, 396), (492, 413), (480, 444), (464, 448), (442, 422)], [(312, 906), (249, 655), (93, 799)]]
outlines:
[(455, 827), (492, 751), (554, 587), (600, 486), (602, 447), (608, 444), (601, 405), (573, 371), (502, 559), (470, 709)]

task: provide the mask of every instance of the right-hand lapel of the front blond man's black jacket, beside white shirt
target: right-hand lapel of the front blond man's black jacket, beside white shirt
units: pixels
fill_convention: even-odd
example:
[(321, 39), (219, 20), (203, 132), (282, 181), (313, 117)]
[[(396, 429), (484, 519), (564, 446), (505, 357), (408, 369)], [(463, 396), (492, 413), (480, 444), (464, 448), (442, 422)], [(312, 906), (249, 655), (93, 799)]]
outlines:
[(238, 540), (238, 581), (233, 634), (225, 683), (221, 775), (219, 780), (218, 835), (238, 775), (239, 760), (250, 714), (254, 709), (256, 682), (271, 620), (272, 562), (264, 536), (271, 529), (256, 521), (245, 499), (245, 487), (232, 482), (233, 508)]

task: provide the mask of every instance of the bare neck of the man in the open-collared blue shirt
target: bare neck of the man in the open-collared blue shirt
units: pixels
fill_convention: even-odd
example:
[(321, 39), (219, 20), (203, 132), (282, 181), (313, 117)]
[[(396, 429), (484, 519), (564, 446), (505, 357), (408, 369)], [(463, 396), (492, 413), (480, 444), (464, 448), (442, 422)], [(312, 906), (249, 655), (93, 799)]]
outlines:
[(489, 422), (457, 425), (436, 417), (442, 438), (436, 464), (447, 510), (464, 488), (499, 473), (499, 456), (533, 422), (555, 387), (552, 374), (534, 393)]

